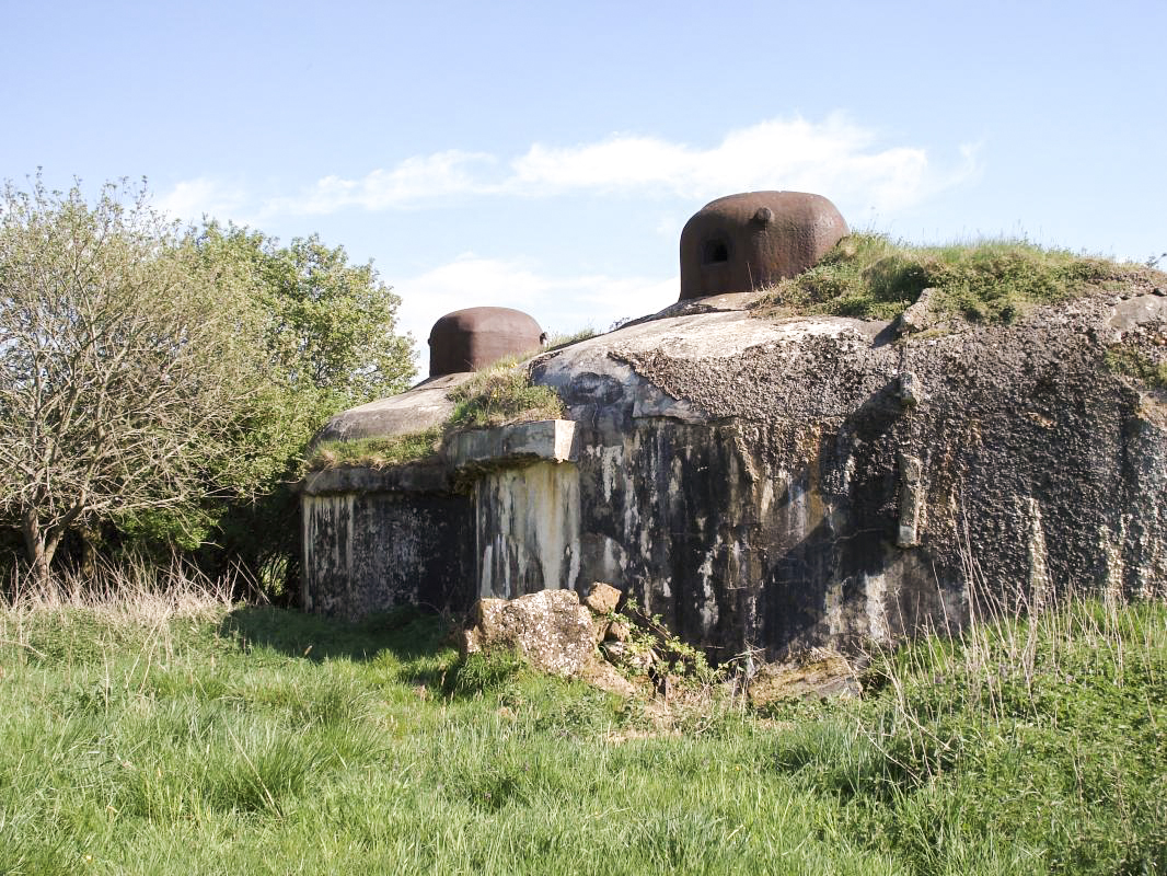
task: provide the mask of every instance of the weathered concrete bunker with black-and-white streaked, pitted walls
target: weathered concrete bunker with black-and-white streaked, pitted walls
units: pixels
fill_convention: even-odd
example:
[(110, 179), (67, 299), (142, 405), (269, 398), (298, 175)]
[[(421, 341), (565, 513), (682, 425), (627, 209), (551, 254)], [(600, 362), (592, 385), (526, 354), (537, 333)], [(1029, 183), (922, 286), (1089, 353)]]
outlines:
[[(1106, 345), (1159, 350), (1167, 296), (1099, 291), (903, 343), (883, 320), (760, 319), (750, 259), (773, 242), (773, 272), (805, 267), (846, 225), (825, 199), (757, 194), (686, 225), (692, 294), (523, 366), (568, 419), (448, 436), (426, 463), (310, 474), (306, 606), (461, 611), (606, 580), (715, 659), (774, 659), (959, 627), (978, 588), (1035, 604), (1161, 592), (1167, 392), (1110, 370)], [(771, 241), (790, 203), (805, 208), (794, 242)], [(712, 284), (721, 269), (749, 283)], [(715, 306), (686, 300), (714, 293)], [(469, 376), (431, 377), (330, 427), (439, 423)], [(970, 545), (984, 545), (977, 586)]]

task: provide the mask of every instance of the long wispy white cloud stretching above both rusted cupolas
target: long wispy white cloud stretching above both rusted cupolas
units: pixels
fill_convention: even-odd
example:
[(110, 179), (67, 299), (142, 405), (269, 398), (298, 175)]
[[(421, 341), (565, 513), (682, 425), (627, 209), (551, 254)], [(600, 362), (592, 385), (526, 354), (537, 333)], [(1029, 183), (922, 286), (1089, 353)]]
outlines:
[[(714, 197), (750, 189), (819, 192), (836, 202), (894, 211), (966, 180), (977, 169), (973, 147), (938, 166), (920, 146), (885, 146), (875, 131), (843, 114), (823, 121), (774, 119), (731, 131), (699, 148), (652, 137), (616, 134), (595, 142), (536, 142), (509, 160), (449, 150), (415, 155), (364, 176), (326, 176), (277, 197), (252, 196), (254, 215), (320, 215), (348, 208), (424, 207), (449, 196), (546, 197), (567, 193)], [(202, 200), (201, 200), (202, 199)], [(179, 183), (163, 201), (188, 213), (244, 195), (209, 180)]]

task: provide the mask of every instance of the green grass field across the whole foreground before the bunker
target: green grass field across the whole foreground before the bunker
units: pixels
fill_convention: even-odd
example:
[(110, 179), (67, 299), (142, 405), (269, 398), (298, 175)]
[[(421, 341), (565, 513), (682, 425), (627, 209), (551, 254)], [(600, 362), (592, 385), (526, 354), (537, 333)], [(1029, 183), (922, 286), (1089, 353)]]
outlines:
[(1167, 609), (879, 655), (662, 731), (438, 618), (0, 609), (2, 874), (1167, 872)]

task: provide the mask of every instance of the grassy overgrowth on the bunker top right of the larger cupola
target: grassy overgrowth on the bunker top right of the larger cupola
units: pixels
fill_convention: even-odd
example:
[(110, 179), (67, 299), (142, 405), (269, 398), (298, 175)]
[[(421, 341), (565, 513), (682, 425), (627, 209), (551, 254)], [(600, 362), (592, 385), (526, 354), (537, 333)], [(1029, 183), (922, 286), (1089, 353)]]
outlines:
[(1016, 239), (915, 246), (882, 234), (853, 234), (809, 271), (782, 280), (760, 299), (760, 314), (823, 313), (894, 319), (936, 290), (939, 314), (973, 322), (1011, 322), (1037, 304), (1075, 298), (1111, 284), (1162, 285), (1147, 265), (1046, 249)]

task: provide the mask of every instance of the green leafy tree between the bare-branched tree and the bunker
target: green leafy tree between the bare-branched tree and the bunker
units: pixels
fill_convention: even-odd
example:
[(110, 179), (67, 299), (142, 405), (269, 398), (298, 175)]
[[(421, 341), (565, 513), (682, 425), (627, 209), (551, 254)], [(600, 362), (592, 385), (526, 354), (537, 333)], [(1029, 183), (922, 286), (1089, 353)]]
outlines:
[(289, 561), (299, 500), (289, 487), (306, 445), (338, 410), (404, 390), (415, 374), (412, 339), (396, 333), (400, 299), (371, 264), (349, 264), (341, 246), (315, 235), (281, 246), (259, 231), (214, 221), (191, 237), (208, 269), (249, 290), (270, 362), (265, 417), (247, 433), (263, 451), (256, 457), (263, 471), (254, 472), (263, 486), (256, 499), (219, 503), (204, 521), (214, 523), (216, 538), (215, 550), (203, 551), (204, 564), (242, 564), (279, 589), (296, 572)]

